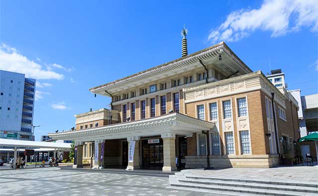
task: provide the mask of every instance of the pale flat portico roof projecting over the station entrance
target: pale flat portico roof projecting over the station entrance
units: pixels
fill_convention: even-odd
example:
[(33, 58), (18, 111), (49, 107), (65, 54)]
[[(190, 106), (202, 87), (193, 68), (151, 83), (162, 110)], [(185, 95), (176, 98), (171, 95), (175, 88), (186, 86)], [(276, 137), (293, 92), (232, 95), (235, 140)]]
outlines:
[(214, 126), (214, 123), (211, 122), (192, 118), (180, 113), (171, 113), (132, 122), (79, 131), (49, 133), (48, 135), (50, 138), (56, 140), (76, 140), (77, 142), (148, 137), (165, 133), (191, 137), (193, 133), (209, 131), (213, 129)]

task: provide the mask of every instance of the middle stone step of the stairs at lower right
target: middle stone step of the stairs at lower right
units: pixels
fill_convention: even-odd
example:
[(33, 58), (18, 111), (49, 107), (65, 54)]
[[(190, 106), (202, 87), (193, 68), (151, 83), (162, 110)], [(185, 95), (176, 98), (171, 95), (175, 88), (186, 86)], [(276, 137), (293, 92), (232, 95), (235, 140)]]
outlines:
[(238, 181), (224, 181), (224, 180), (210, 180), (210, 179), (193, 179), (186, 178), (181, 172), (175, 173), (175, 176), (179, 182), (182, 183), (196, 183), (202, 185), (221, 185), (232, 187), (246, 187), (268, 190), (280, 190), (280, 191), (297, 191), (316, 193), (318, 195), (318, 188), (316, 187), (303, 187), (303, 186), (290, 186), (290, 185), (276, 185), (276, 184), (264, 184), (264, 183), (248, 183)]

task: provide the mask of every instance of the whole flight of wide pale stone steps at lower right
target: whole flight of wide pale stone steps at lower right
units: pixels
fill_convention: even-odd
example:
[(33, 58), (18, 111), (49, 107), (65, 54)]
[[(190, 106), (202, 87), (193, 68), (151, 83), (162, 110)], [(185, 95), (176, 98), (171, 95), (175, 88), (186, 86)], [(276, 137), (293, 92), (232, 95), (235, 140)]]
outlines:
[(169, 188), (229, 196), (318, 196), (318, 183), (199, 177), (185, 171), (169, 176)]

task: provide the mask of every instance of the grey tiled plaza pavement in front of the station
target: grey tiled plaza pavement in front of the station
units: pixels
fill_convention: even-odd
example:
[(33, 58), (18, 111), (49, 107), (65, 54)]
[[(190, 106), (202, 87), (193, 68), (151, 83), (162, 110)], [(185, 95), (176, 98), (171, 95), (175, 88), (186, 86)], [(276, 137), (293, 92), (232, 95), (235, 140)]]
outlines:
[(169, 179), (162, 177), (59, 168), (0, 171), (1, 196), (216, 196), (166, 187)]

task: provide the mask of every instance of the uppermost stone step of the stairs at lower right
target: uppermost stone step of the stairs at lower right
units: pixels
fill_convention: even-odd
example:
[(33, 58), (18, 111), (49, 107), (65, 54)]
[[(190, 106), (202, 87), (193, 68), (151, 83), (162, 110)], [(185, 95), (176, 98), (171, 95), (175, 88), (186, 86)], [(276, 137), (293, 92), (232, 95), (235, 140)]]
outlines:
[(207, 177), (207, 176), (198, 176), (191, 175), (186, 170), (181, 170), (181, 173), (186, 178), (191, 179), (206, 179), (206, 180), (222, 180), (230, 182), (243, 182), (243, 183), (259, 183), (259, 184), (271, 184), (271, 185), (285, 185), (285, 186), (299, 186), (299, 187), (315, 187), (318, 188), (318, 183), (301, 183), (301, 182), (291, 182), (291, 181), (279, 181), (279, 180), (258, 180), (258, 179), (236, 179), (236, 178), (221, 178), (221, 177)]

